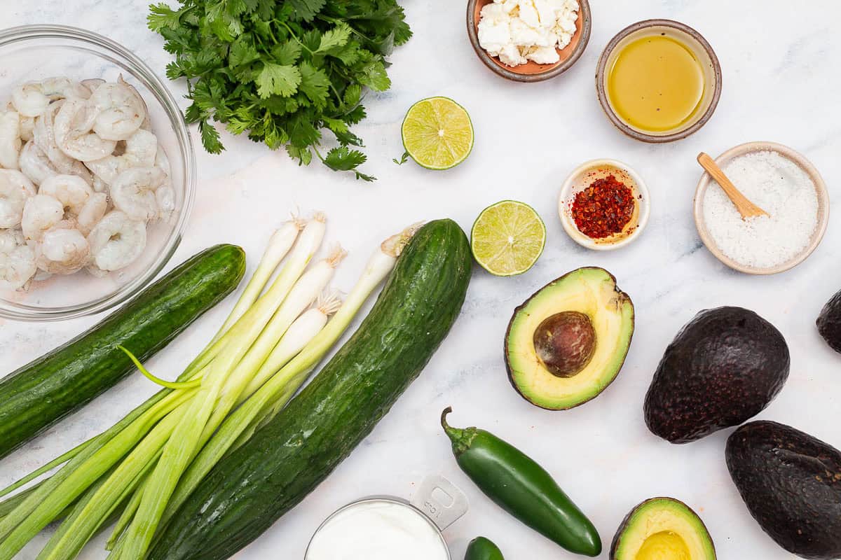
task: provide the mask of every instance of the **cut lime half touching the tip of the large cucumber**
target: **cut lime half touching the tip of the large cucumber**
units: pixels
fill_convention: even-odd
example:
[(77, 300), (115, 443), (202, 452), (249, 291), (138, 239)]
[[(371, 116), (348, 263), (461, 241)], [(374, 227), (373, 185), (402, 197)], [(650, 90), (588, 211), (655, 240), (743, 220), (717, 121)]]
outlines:
[(473, 258), (492, 275), (521, 275), (532, 268), (546, 245), (546, 225), (534, 208), (501, 201), (485, 208), (470, 232)]

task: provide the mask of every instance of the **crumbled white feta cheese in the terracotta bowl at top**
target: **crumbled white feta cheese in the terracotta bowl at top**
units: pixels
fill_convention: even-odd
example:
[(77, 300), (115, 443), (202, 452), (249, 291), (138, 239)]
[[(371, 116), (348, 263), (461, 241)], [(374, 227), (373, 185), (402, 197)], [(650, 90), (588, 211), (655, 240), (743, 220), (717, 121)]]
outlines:
[(554, 64), (575, 34), (576, 0), (494, 0), (482, 8), (479, 44), (505, 65)]

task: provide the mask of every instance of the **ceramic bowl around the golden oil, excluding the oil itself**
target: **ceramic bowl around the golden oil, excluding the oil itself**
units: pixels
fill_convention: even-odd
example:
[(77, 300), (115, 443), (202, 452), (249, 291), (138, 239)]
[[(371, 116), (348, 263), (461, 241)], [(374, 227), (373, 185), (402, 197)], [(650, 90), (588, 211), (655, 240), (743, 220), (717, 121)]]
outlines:
[[(680, 128), (657, 133), (642, 130), (627, 123), (614, 111), (610, 97), (607, 95), (607, 76), (609, 76), (610, 69), (616, 62), (616, 57), (622, 48), (640, 37), (653, 34), (670, 35), (688, 46), (696, 55), (696, 58), (701, 61), (706, 80), (704, 97), (701, 99), (701, 111), (698, 111), (696, 117), (681, 125)], [(673, 142), (696, 133), (710, 120), (712, 113), (716, 112), (718, 99), (722, 95), (722, 67), (718, 62), (716, 52), (695, 29), (670, 19), (648, 19), (622, 29), (607, 44), (605, 50), (601, 53), (599, 65), (596, 67), (595, 91), (607, 118), (610, 118), (611, 123), (616, 125), (616, 128), (619, 128), (623, 133), (633, 139), (654, 144)]]

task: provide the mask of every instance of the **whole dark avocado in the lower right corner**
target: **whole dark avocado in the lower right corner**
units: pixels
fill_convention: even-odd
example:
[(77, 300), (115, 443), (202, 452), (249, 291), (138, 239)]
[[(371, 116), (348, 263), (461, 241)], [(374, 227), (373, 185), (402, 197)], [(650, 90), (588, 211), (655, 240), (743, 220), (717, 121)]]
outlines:
[(804, 558), (841, 557), (841, 452), (772, 421), (727, 439), (727, 469), (762, 530)]

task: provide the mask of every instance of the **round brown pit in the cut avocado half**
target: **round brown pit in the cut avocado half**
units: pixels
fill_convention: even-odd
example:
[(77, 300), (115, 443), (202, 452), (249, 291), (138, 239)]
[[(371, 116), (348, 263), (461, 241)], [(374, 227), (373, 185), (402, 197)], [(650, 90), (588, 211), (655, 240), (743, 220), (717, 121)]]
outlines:
[(579, 311), (561, 311), (544, 319), (534, 331), (537, 359), (556, 377), (573, 377), (590, 364), (595, 353), (595, 328)]

